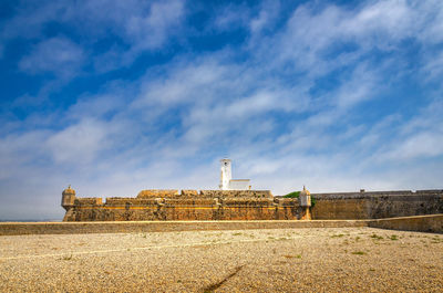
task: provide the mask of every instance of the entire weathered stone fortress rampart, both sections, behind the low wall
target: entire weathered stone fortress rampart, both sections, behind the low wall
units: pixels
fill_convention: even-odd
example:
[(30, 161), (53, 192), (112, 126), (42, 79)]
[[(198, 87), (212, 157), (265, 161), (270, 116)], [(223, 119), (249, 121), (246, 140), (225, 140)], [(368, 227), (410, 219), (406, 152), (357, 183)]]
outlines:
[[(312, 193), (312, 219), (381, 219), (443, 213), (443, 190)], [(297, 198), (269, 190), (142, 190), (137, 197), (78, 198), (63, 191), (63, 221), (298, 220)]]

